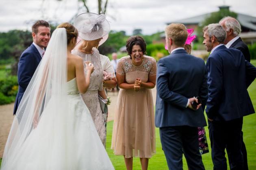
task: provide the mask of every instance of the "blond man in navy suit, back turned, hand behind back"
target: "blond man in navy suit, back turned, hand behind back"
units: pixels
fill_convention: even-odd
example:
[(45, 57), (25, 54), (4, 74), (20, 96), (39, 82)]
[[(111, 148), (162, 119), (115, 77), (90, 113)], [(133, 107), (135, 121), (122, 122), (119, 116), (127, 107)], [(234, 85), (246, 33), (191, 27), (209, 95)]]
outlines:
[[(204, 61), (184, 50), (187, 29), (172, 23), (165, 28), (170, 55), (158, 61), (156, 74), (156, 127), (169, 169), (182, 170), (182, 148), (190, 170), (204, 170), (197, 127), (206, 126), (207, 72)], [(202, 100), (193, 109), (191, 103)]]

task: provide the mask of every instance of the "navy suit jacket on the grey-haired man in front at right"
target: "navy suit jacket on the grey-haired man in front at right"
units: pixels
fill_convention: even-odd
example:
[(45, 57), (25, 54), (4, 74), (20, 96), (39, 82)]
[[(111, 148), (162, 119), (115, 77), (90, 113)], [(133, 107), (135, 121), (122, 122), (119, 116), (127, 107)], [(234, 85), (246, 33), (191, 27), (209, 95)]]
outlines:
[(256, 68), (244, 59), (241, 51), (221, 45), (209, 55), (206, 66), (208, 118), (229, 121), (255, 113), (247, 85), (255, 79)]

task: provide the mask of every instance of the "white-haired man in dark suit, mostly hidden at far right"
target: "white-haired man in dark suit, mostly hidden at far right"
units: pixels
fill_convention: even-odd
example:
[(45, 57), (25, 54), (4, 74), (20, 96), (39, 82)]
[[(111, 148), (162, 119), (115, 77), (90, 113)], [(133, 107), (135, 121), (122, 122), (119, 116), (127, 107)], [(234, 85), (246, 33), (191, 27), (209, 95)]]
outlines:
[[(226, 30), (227, 37), (224, 41), (224, 44), (227, 48), (238, 49), (242, 51), (245, 60), (250, 62), (251, 56), (247, 45), (242, 41), (239, 37), (241, 33), (241, 25), (240, 23), (233, 17), (223, 17), (219, 24)], [(247, 151), (245, 147), (245, 143), (243, 142), (243, 131), (241, 131), (241, 142), (242, 142), (242, 153), (243, 153), (243, 170), (248, 170), (247, 163)], [(229, 155), (230, 153), (228, 153)], [(230, 160), (229, 160), (230, 162)]]

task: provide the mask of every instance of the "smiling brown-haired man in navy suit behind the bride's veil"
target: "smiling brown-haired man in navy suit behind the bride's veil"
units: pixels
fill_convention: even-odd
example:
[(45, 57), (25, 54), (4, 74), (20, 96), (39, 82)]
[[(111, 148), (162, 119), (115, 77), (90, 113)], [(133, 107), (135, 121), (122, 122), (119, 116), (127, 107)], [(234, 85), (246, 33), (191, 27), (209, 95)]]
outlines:
[(18, 84), (19, 90), (16, 96), (13, 115), (22, 100), (23, 94), (40, 63), (44, 48), (47, 47), (50, 40), (50, 25), (48, 22), (38, 20), (32, 26), (33, 43), (20, 56), (18, 64)]

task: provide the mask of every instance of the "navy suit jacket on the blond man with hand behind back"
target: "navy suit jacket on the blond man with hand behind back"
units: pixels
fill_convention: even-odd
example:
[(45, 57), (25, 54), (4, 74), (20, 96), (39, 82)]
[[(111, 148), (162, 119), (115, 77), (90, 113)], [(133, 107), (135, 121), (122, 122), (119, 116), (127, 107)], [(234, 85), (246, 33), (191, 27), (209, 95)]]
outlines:
[[(207, 72), (204, 60), (179, 49), (161, 58), (156, 74), (156, 127), (206, 126)], [(198, 110), (186, 108), (189, 98), (200, 96)]]

